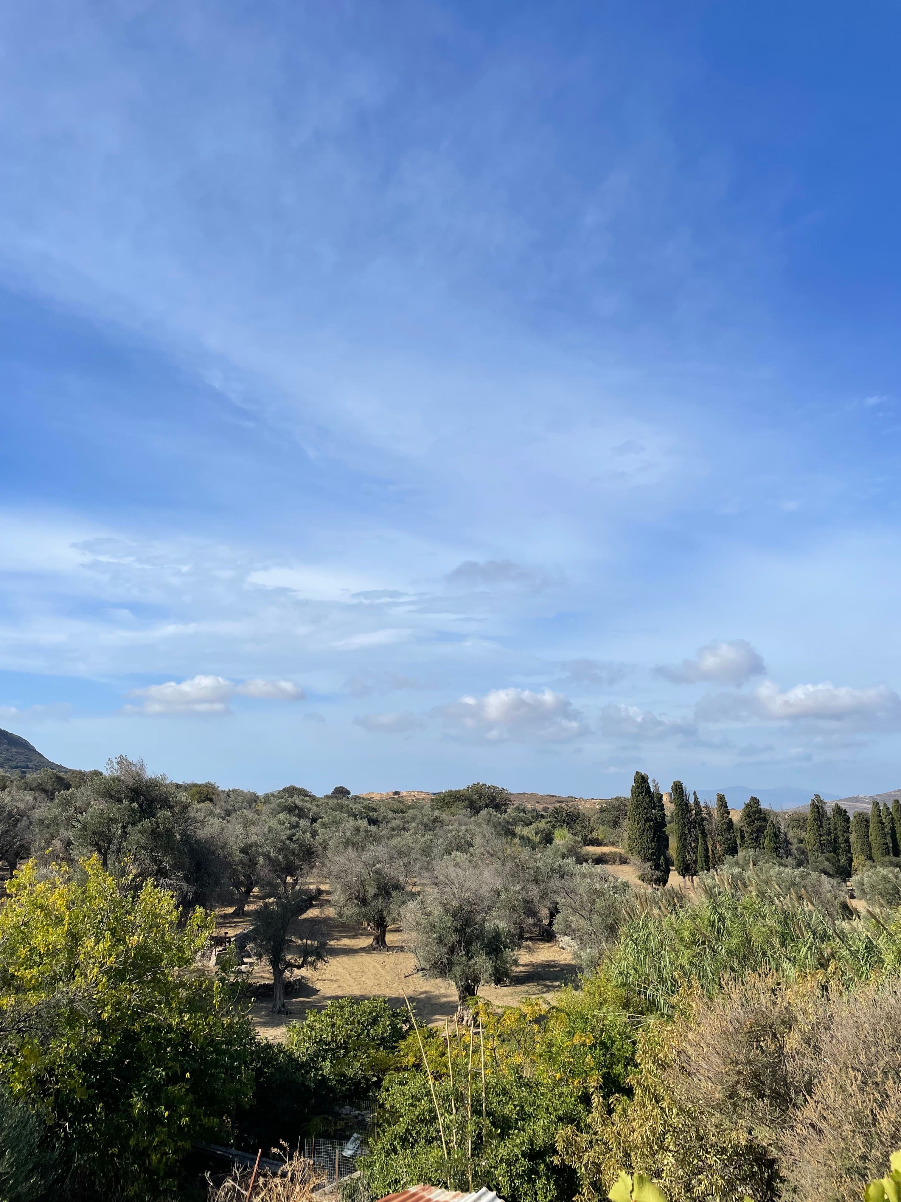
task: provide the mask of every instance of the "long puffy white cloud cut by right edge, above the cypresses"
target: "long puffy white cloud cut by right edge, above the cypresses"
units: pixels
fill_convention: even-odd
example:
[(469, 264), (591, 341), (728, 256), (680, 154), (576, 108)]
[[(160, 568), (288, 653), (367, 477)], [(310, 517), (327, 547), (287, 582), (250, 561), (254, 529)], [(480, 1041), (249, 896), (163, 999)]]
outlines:
[(784, 692), (774, 680), (764, 680), (750, 694), (702, 697), (696, 707), (700, 721), (796, 722), (827, 721), (901, 727), (901, 697), (887, 685), (851, 689), (822, 684), (798, 684)]

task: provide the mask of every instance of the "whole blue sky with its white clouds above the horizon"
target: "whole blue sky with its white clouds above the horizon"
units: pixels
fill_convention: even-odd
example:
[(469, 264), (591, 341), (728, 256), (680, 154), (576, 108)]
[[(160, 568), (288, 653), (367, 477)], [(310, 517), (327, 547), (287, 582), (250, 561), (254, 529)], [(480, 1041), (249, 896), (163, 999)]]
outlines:
[(6, 5), (0, 725), (890, 789), (901, 10)]

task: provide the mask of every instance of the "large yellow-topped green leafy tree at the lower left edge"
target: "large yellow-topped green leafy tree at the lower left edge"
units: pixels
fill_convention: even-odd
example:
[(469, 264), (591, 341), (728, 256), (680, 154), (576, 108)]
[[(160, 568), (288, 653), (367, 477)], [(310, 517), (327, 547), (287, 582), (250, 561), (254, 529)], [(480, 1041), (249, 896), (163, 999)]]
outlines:
[(0, 1079), (90, 1196), (159, 1197), (250, 1090), (253, 1034), (198, 975), (213, 920), (100, 861), (24, 864), (0, 909)]

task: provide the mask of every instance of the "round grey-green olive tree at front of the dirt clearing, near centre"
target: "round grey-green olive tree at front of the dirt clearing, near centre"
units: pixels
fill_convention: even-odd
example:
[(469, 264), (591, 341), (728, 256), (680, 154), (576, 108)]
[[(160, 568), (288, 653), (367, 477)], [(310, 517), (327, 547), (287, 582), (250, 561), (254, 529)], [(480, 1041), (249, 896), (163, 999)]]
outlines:
[(501, 882), (491, 865), (455, 852), (438, 864), (429, 893), (404, 909), (404, 927), (416, 936), (423, 970), (457, 986), (460, 1019), (483, 981), (500, 984), (513, 968), (519, 936), (500, 902)]

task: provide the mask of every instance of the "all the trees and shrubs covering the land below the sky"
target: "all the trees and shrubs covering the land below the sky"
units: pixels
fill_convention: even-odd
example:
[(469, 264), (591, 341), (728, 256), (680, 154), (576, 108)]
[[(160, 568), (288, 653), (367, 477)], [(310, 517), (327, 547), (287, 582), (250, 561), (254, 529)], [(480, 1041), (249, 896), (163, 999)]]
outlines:
[[(257, 796), (125, 758), (0, 785), (4, 1198), (202, 1198), (198, 1141), (291, 1159), (358, 1130), (360, 1202), (420, 1180), (589, 1202), (622, 1171), (670, 1202), (812, 1202), (859, 1198), (901, 1146), (899, 803), (752, 798), (734, 821), (678, 781), (668, 809), (640, 773), (629, 798), (544, 811), (481, 784)], [(365, 954), (400, 928), (455, 1011), (347, 998), (262, 1039), (247, 970), (290, 1007), (329, 954), (297, 922), (322, 888)], [(223, 909), (238, 946), (213, 939)], [(583, 975), (493, 1007), (479, 989), (526, 940)]]

